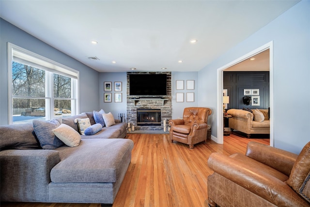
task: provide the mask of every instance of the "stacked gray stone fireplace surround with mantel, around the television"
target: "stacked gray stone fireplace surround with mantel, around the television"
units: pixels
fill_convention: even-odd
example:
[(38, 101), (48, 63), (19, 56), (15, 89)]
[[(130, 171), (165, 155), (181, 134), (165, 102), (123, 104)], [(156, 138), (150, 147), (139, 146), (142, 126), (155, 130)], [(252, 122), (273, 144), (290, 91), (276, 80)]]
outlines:
[[(164, 120), (171, 119), (171, 72), (138, 72), (140, 74), (167, 74), (167, 96), (129, 96), (127, 73), (127, 123), (136, 130), (163, 130)], [(140, 114), (140, 115), (139, 115)], [(141, 120), (142, 118), (142, 120)]]

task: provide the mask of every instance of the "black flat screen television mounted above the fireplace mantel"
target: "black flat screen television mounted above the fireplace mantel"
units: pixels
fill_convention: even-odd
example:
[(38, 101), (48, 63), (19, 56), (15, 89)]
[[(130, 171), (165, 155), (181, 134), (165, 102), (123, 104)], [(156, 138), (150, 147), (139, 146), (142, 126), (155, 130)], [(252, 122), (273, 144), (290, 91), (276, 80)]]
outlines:
[(130, 96), (166, 96), (166, 74), (129, 74)]

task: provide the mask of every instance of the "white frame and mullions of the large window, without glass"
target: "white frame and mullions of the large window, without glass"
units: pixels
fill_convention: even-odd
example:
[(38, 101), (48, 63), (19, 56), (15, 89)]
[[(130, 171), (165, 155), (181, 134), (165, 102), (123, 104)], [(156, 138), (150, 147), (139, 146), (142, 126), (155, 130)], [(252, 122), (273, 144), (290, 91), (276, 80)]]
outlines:
[[(57, 63), (44, 56), (31, 52), (27, 49), (16, 46), (8, 42), (8, 123), (13, 123), (13, 61), (27, 64), (46, 71), (46, 120), (54, 118), (55, 99), (71, 100), (71, 115), (78, 114), (79, 111), (79, 71), (63, 64)], [(71, 78), (71, 98), (54, 97), (53, 74), (59, 74)], [(33, 98), (22, 96), (23, 98)], [(35, 97), (34, 97), (35, 98)], [(40, 97), (41, 98), (41, 97)]]

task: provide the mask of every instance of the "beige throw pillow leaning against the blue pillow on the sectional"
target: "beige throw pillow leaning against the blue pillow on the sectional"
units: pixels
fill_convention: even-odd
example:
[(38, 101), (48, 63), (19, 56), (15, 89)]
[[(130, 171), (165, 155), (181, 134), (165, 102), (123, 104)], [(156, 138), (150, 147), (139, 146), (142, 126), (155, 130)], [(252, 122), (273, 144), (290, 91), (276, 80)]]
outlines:
[(59, 127), (52, 129), (52, 132), (63, 143), (71, 147), (78, 146), (81, 141), (81, 135), (74, 128), (65, 124), (61, 124)]

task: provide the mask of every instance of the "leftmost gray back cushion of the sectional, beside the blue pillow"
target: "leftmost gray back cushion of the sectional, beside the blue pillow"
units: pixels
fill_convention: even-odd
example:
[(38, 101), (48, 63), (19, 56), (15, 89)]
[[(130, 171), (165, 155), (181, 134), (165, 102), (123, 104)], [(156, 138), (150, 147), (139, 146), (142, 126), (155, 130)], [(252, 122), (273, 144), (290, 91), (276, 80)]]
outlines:
[(5, 149), (42, 149), (32, 123), (0, 126), (0, 151)]

